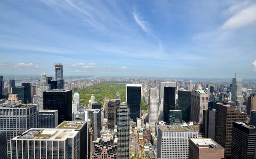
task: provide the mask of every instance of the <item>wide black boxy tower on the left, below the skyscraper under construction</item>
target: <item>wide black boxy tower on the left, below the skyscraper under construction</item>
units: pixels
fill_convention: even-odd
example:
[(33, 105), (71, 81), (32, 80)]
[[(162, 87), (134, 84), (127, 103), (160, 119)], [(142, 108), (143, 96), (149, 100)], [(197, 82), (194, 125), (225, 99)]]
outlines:
[(58, 110), (58, 124), (63, 121), (72, 121), (72, 91), (45, 91), (44, 109)]

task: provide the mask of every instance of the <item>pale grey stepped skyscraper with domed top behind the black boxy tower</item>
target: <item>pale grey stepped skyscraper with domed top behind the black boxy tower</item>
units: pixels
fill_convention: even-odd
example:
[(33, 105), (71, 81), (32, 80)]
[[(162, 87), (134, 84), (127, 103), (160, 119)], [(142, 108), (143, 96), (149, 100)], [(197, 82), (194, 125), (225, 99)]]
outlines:
[(44, 91), (49, 91), (51, 85), (48, 85), (48, 79), (46, 74), (41, 74), (40, 81), (37, 88), (37, 100), (34, 101), (39, 104), (40, 110), (44, 109)]

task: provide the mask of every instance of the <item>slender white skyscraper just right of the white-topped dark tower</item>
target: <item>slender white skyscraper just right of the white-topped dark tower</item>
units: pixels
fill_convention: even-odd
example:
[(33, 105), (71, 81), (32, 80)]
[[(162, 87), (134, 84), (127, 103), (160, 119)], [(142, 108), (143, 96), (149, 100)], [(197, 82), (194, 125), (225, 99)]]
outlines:
[(152, 132), (155, 133), (155, 123), (158, 121), (158, 89), (151, 88), (148, 97), (149, 100), (149, 124), (151, 125)]

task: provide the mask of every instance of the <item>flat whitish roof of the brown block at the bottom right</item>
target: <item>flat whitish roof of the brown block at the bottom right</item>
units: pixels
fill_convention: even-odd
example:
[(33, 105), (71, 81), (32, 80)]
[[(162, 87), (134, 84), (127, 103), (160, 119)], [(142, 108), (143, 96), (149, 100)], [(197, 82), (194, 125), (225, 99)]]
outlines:
[(223, 148), (221, 145), (219, 145), (213, 139), (190, 138), (190, 140), (192, 142), (194, 142), (194, 144), (197, 145), (199, 148)]

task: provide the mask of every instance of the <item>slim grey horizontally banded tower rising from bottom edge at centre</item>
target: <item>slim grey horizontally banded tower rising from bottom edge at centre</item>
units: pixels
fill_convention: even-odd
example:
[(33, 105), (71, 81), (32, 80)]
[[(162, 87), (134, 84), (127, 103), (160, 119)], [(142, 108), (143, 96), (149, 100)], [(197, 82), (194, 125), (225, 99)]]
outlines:
[(120, 105), (117, 110), (117, 158), (129, 159), (130, 110), (128, 105)]

